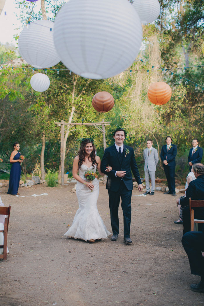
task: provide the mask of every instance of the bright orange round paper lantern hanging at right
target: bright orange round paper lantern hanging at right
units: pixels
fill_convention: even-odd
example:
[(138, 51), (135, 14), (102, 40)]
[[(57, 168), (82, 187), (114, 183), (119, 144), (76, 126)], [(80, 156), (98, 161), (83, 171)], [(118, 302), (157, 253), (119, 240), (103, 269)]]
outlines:
[(155, 82), (147, 91), (148, 99), (156, 105), (163, 105), (171, 99), (171, 87), (165, 82)]

